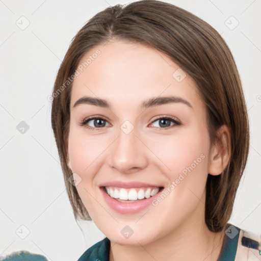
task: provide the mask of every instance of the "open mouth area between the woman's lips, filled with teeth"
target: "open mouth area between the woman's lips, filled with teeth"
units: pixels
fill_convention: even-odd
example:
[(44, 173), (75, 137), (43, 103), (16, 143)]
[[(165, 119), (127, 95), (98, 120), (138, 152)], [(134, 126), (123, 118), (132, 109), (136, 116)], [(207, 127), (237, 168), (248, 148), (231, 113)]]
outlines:
[(144, 187), (144, 188), (116, 188), (102, 187), (102, 189), (112, 198), (120, 202), (137, 202), (148, 199), (163, 190), (163, 187)]

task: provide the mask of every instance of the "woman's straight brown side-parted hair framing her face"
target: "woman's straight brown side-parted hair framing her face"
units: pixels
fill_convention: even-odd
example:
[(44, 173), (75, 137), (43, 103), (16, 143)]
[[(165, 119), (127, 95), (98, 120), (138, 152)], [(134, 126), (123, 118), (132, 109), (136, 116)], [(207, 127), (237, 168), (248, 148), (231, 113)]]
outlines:
[(154, 0), (116, 5), (97, 13), (73, 38), (59, 68), (51, 124), (75, 219), (91, 220), (76, 188), (68, 181), (72, 175), (67, 166), (72, 82), (66, 81), (91, 48), (110, 39), (154, 47), (194, 79), (206, 106), (212, 144), (220, 141), (219, 127), (228, 127), (229, 164), (221, 175), (208, 174), (206, 182), (205, 223), (211, 231), (222, 230), (230, 218), (249, 150), (249, 124), (240, 76), (228, 46), (211, 25), (186, 10)]

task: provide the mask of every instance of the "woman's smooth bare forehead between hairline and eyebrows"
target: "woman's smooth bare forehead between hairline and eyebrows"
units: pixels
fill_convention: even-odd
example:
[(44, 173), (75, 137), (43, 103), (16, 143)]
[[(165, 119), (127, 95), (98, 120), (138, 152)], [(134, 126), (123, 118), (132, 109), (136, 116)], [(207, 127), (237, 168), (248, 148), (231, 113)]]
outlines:
[(200, 99), (193, 79), (169, 57), (150, 46), (112, 41), (93, 47), (81, 59), (73, 81), (71, 108), (83, 96), (113, 104), (141, 103), (156, 96)]

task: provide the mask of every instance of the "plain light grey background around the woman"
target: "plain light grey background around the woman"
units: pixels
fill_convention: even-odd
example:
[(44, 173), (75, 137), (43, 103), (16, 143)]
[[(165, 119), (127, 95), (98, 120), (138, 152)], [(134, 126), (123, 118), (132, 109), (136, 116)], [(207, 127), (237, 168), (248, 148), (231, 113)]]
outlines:
[[(82, 232), (74, 221), (47, 97), (76, 32), (109, 5), (129, 2), (0, 0), (0, 255), (26, 249), (49, 260), (71, 261), (103, 238), (92, 222), (82, 222)], [(236, 59), (250, 117), (251, 147), (230, 222), (260, 234), (260, 0), (166, 2), (210, 23)], [(28, 130), (18, 125), (21, 121)]]

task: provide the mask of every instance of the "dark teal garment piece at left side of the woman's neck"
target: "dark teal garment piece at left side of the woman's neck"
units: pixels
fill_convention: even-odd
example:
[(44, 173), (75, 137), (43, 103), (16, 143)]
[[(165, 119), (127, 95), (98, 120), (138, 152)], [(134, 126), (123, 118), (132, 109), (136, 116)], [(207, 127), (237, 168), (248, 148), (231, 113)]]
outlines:
[(88, 248), (78, 261), (109, 261), (111, 242), (105, 238)]

